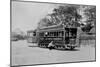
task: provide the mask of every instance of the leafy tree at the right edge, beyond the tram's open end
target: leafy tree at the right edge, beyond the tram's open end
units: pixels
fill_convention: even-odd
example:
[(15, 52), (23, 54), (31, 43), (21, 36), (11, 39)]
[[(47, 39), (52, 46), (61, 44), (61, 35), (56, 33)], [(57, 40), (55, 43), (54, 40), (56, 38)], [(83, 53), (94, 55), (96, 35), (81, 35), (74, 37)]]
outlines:
[(86, 25), (82, 27), (83, 32), (90, 32), (90, 30), (96, 25), (96, 7), (87, 7), (84, 10), (84, 14), (87, 17)]

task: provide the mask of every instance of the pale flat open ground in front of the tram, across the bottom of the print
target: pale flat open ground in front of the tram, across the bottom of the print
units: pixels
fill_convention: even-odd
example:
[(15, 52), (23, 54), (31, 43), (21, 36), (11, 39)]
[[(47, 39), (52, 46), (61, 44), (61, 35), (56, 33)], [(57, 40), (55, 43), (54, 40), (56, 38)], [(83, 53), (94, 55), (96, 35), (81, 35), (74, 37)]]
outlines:
[[(30, 65), (95, 60), (95, 48), (90, 46), (71, 50), (49, 50), (28, 47), (27, 41), (12, 42), (12, 65)], [(31, 45), (31, 44), (30, 44)]]

